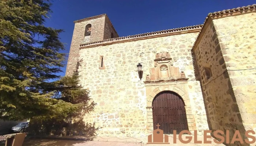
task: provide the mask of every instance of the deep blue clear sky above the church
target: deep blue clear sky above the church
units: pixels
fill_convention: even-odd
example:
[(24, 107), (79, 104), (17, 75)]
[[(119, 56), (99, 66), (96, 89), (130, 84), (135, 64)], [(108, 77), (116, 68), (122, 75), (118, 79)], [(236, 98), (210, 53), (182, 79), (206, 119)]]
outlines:
[[(254, 4), (255, 0), (54, 0), (46, 26), (63, 29), (69, 53), (74, 21), (107, 14), (120, 37), (203, 24), (210, 12)], [(67, 64), (67, 62), (65, 62)], [(65, 76), (66, 66), (61, 76)]]

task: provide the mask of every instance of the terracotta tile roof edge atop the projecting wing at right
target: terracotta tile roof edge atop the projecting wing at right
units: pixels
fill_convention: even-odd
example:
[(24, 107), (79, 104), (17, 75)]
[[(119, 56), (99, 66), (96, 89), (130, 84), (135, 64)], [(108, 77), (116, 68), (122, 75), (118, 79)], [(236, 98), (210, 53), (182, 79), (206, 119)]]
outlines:
[(198, 34), (197, 37), (196, 37), (196, 41), (195, 41), (195, 43), (194, 43), (193, 46), (192, 46), (192, 50), (193, 50), (193, 48), (195, 47), (196, 42), (197, 42), (199, 36), (201, 35), (201, 32), (202, 32), (202, 30), (203, 30), (203, 28), (204, 28), (204, 25), (206, 24), (207, 20), (208, 20), (210, 17), (216, 17), (216, 16), (223, 15), (223, 14), (230, 14), (230, 13), (232, 13), (232, 12), (246, 11), (246, 10), (248, 10), (248, 9), (255, 9), (255, 8), (256, 8), (256, 4), (252, 4), (252, 5), (248, 5), (248, 6), (246, 6), (246, 7), (243, 6), (243, 7), (233, 8), (233, 9), (224, 9), (224, 10), (222, 10), (222, 11), (209, 13), (209, 14), (207, 15), (206, 19), (204, 20), (202, 29), (199, 31), (199, 34)]

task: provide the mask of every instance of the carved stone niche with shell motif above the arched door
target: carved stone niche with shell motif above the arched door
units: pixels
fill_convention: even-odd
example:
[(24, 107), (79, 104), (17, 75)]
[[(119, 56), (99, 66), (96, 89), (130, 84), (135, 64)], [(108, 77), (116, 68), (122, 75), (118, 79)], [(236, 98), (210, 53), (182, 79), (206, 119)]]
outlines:
[(144, 83), (187, 81), (185, 73), (179, 67), (173, 66), (173, 60), (168, 52), (157, 53), (154, 59), (154, 68), (150, 68)]

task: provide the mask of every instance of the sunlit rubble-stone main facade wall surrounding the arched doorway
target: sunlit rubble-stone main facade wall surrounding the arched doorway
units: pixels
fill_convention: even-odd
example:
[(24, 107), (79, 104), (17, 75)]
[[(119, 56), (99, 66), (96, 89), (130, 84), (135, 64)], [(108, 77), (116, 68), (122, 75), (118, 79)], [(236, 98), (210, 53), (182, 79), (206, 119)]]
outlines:
[[(189, 78), (186, 84), (180, 86), (191, 101), (191, 108), (188, 108), (188, 112), (192, 113), (192, 117), (188, 117), (189, 125), (195, 125), (193, 127), (199, 131), (208, 129), (200, 82), (195, 78), (191, 55), (197, 34), (180, 34), (81, 49), (81, 84), (91, 91), (91, 98), (98, 104), (94, 112), (84, 117), (85, 122), (95, 122), (96, 126), (102, 127), (98, 136), (146, 135), (147, 122), (153, 119), (147, 119), (146, 87), (143, 81), (146, 80), (149, 69), (154, 67), (155, 54), (167, 51), (174, 59), (173, 66), (179, 67)], [(104, 68), (99, 69), (101, 57)], [(139, 62), (142, 62), (144, 72), (141, 82), (136, 67)], [(155, 84), (155, 88), (159, 87), (157, 86)]]

